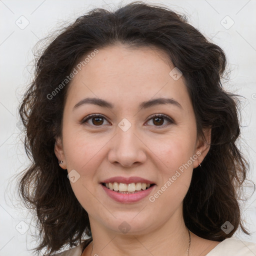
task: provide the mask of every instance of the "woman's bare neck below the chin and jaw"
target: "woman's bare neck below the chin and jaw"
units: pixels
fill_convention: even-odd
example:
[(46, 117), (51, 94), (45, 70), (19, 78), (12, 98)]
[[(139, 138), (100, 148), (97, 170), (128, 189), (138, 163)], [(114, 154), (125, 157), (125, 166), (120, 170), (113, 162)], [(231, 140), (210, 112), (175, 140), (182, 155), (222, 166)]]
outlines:
[(120, 234), (105, 229), (95, 221), (91, 222), (93, 248), (88, 255), (140, 255), (169, 256), (188, 255), (189, 232), (183, 219), (177, 219), (180, 212), (163, 222), (160, 227), (144, 230), (142, 233)]

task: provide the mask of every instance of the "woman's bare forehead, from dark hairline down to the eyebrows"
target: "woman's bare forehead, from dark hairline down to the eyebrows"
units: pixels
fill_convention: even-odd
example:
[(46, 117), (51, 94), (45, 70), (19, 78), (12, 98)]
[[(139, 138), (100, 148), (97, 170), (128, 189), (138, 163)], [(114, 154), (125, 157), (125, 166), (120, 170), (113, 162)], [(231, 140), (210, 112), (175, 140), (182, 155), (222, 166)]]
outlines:
[(148, 100), (154, 95), (184, 101), (188, 95), (184, 97), (187, 90), (182, 77), (174, 80), (169, 75), (173, 67), (167, 54), (157, 48), (116, 45), (98, 49), (77, 69), (67, 98), (77, 101), (85, 95), (96, 96), (126, 106), (135, 99)]

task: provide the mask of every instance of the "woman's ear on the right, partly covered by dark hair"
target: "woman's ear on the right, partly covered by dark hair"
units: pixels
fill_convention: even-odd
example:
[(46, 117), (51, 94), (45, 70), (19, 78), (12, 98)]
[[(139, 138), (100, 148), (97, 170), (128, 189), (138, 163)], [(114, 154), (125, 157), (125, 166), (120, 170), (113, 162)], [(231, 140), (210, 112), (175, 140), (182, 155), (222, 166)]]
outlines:
[(203, 129), (204, 137), (198, 137), (196, 142), (195, 154), (197, 155), (197, 161), (193, 162), (193, 168), (196, 168), (201, 163), (210, 149), (211, 141), (211, 128)]

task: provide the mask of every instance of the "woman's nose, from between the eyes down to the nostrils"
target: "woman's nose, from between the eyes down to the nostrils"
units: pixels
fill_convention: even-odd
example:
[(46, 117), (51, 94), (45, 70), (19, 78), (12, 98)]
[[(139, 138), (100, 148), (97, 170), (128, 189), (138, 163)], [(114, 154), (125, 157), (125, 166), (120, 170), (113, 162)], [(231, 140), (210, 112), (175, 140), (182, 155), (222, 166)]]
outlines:
[(120, 164), (123, 167), (133, 167), (146, 160), (146, 146), (135, 132), (135, 125), (123, 131), (119, 127), (112, 139), (111, 148), (108, 152), (108, 161), (112, 164)]

